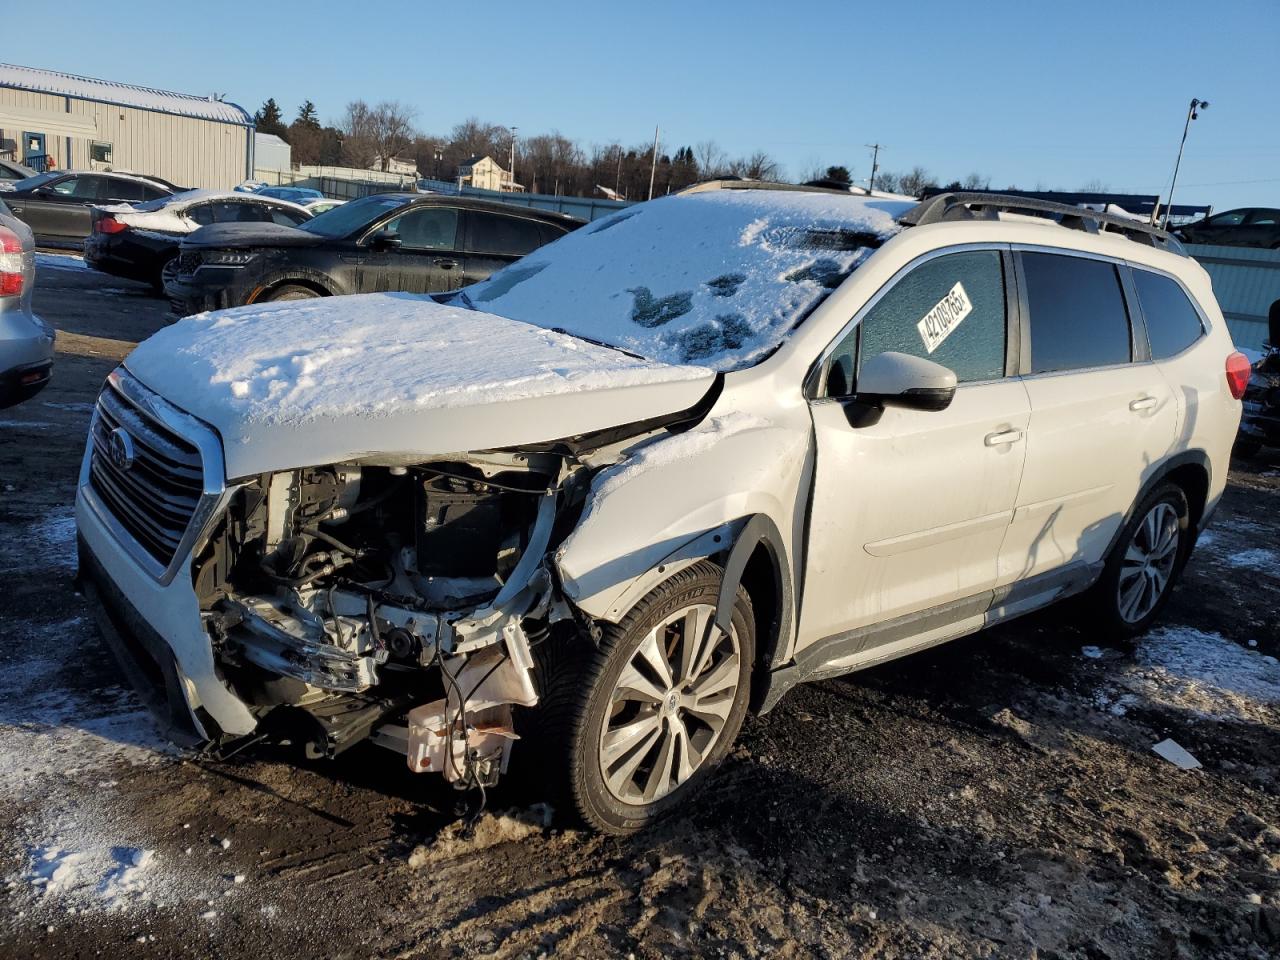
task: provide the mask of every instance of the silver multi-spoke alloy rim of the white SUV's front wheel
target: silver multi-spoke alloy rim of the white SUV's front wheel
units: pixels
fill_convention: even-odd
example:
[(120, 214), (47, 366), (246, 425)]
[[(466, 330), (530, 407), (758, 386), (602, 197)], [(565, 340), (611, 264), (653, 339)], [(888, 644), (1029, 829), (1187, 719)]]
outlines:
[(710, 604), (654, 626), (618, 676), (600, 731), (608, 791), (652, 804), (685, 783), (719, 740), (737, 698), (737, 631), (718, 630)]

